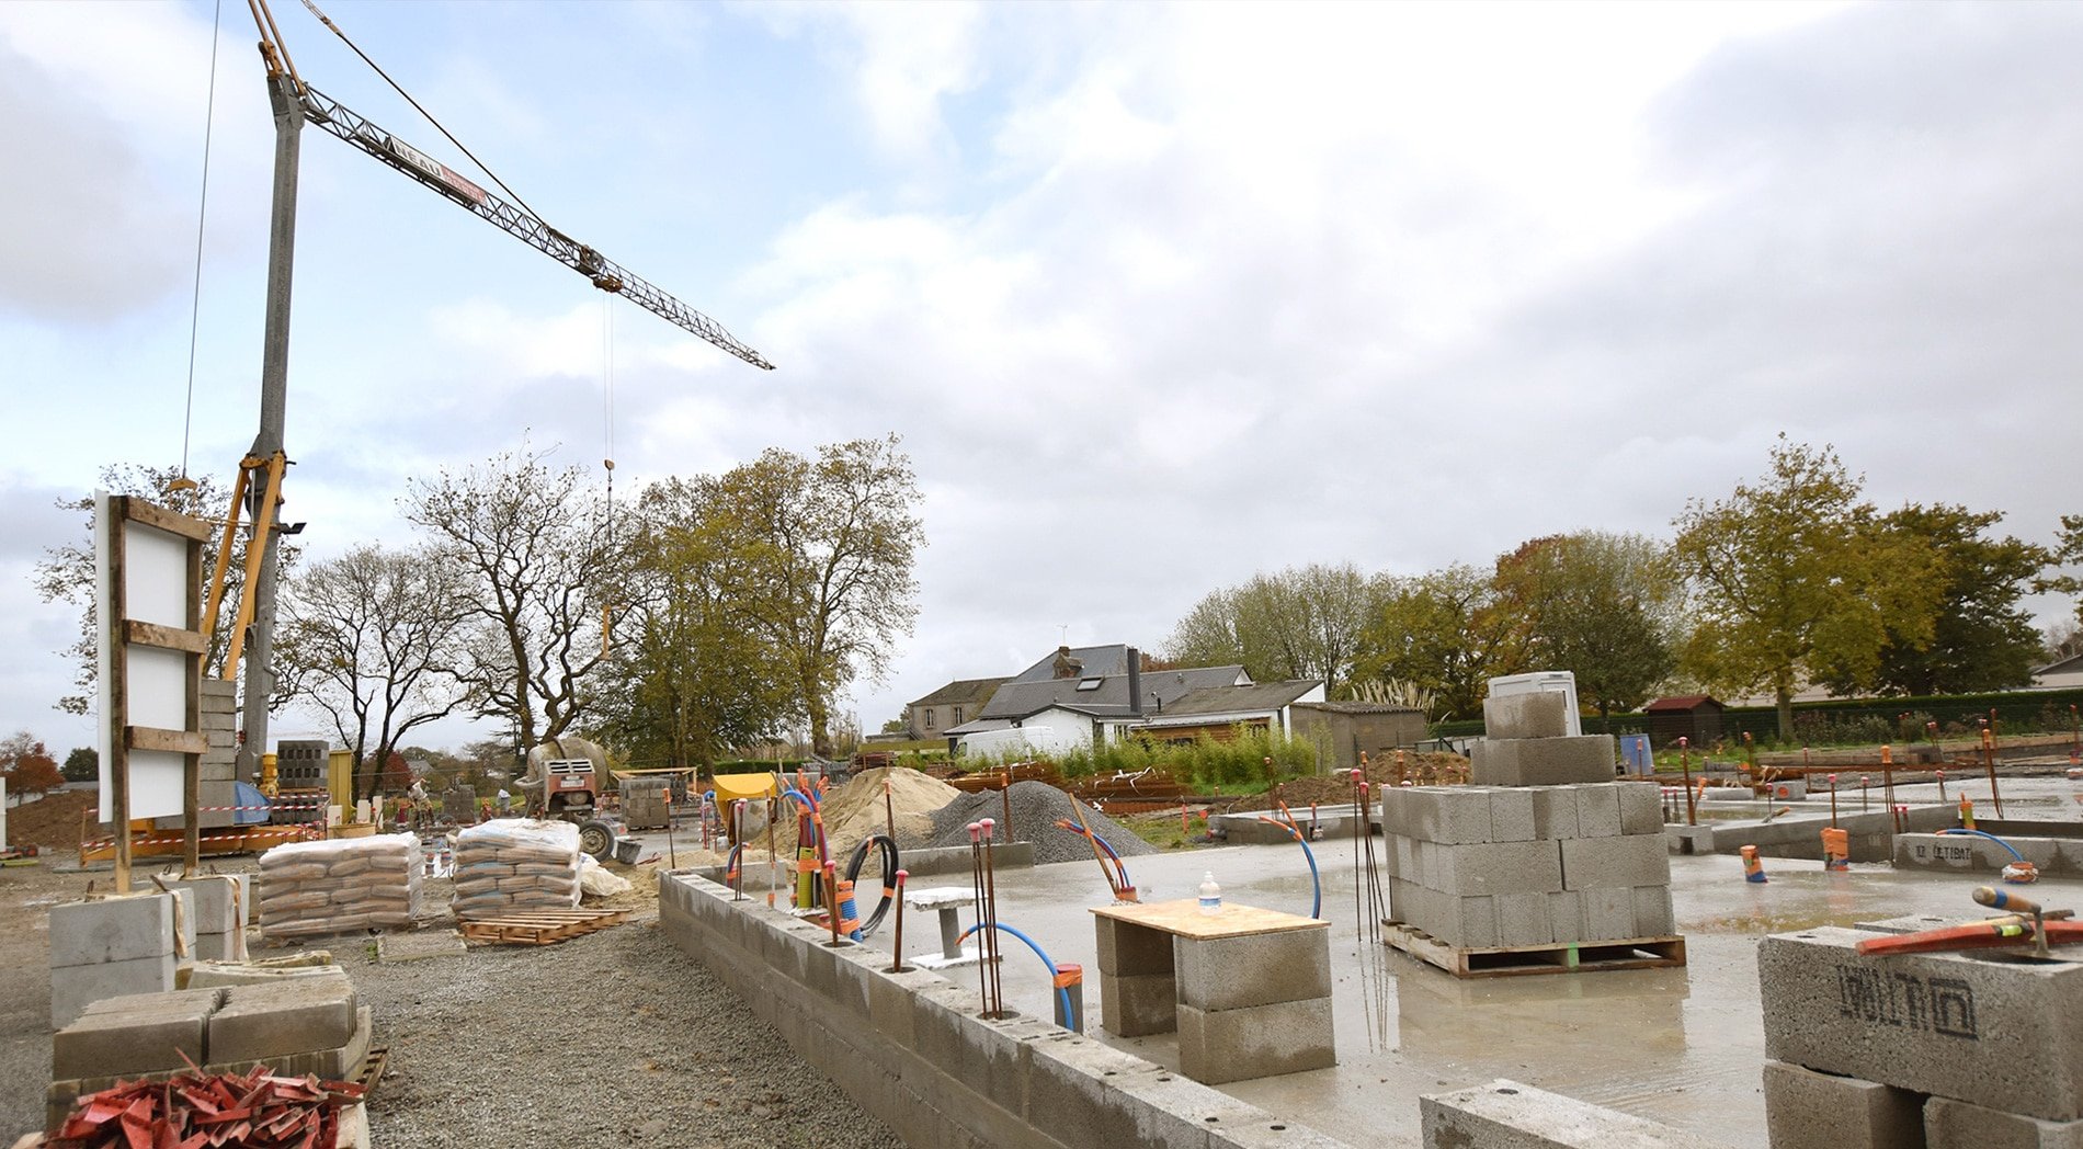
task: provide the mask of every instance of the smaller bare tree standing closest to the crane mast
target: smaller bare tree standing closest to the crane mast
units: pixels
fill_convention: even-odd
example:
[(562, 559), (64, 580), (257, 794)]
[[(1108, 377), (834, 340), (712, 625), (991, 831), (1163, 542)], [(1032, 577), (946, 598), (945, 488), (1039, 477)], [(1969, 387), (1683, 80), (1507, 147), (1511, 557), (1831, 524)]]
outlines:
[(354, 751), (365, 795), (404, 735), (469, 699), (456, 666), (471, 604), (431, 547), (360, 545), (285, 587), (277, 670), (292, 701), (321, 710)]

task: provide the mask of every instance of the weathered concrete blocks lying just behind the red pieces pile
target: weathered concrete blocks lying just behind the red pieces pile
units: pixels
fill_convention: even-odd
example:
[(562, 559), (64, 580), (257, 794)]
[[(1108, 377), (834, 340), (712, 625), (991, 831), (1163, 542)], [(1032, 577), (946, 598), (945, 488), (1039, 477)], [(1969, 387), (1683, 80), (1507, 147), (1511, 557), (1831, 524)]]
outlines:
[[(46, 1122), (56, 1128), (73, 1103), (121, 1080), (165, 1080), (187, 1070), (346, 1080), (369, 1055), (369, 1007), (354, 982), (323, 974), (144, 993), (96, 1001), (50, 1041)], [(185, 1062), (183, 1062), (185, 1057)]]

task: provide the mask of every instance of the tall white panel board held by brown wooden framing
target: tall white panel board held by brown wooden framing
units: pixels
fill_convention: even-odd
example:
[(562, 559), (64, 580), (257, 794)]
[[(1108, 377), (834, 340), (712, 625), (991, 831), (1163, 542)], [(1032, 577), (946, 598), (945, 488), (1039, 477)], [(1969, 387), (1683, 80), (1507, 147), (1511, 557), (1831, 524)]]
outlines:
[[(158, 622), (160, 627), (187, 627), (187, 602), (196, 587), (187, 585), (187, 539), (169, 535), (142, 522), (115, 522), (106, 491), (94, 493), (94, 572), (96, 610), (106, 635), (115, 595), (108, 570), (108, 525), (123, 531), (123, 597), (125, 616), (137, 622)], [(106, 643), (98, 643), (96, 668), (100, 672), (100, 751), (102, 751), (102, 820), (115, 816), (115, 791), (108, 770), (115, 762), (110, 741), (121, 737), (108, 720), (110, 714), (110, 660)], [(175, 649), (158, 649), (129, 643), (125, 649), (129, 664), (127, 710), (131, 726), (156, 726), (162, 731), (187, 729), (187, 674), (192, 660)], [(129, 751), (129, 816), (169, 818), (181, 814), (181, 770), (183, 756), (171, 751)]]

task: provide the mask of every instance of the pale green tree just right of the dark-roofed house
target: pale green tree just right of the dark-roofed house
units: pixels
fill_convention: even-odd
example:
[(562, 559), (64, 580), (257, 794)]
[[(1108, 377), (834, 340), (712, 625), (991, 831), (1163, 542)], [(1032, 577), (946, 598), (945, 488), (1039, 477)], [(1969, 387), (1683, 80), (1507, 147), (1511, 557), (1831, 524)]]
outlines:
[(1379, 599), (1381, 581), (1350, 562), (1254, 574), (1194, 604), (1164, 654), (1183, 666), (1241, 664), (1258, 681), (1323, 679), (1339, 689)]

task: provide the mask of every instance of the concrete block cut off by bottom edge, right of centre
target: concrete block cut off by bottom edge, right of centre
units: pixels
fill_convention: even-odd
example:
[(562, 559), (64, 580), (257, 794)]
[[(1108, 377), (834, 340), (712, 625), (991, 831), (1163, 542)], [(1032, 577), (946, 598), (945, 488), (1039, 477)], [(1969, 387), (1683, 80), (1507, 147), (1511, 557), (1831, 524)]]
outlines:
[(1425, 1149), (1727, 1149), (1706, 1137), (1506, 1078), (1419, 1097), (1419, 1120)]

